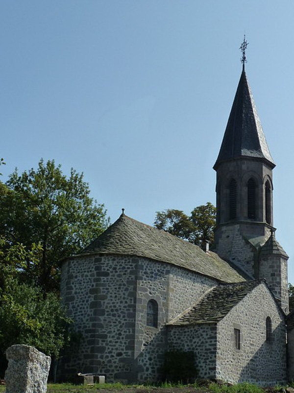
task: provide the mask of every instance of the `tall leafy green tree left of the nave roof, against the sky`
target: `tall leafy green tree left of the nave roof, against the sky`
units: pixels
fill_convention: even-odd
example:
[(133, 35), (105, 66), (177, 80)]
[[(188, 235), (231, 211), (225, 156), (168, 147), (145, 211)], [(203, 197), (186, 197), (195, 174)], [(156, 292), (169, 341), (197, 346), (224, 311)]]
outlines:
[(72, 168), (67, 178), (54, 160), (40, 160), (21, 175), (16, 169), (0, 187), (0, 234), (27, 250), (42, 247), (38, 263), (26, 260), (26, 283), (58, 289), (60, 259), (80, 252), (107, 227), (104, 205), (89, 193), (83, 174)]

